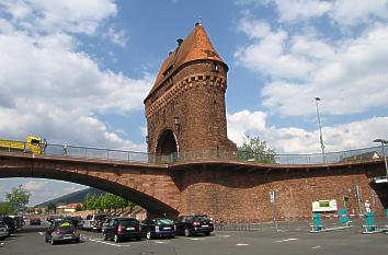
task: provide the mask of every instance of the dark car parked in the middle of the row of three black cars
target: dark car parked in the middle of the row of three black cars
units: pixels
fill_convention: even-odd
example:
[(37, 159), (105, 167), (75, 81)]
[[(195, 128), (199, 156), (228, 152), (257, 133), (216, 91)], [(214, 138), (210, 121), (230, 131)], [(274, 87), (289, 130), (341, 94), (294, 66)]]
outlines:
[(141, 231), (148, 240), (153, 237), (174, 237), (174, 222), (167, 218), (146, 219), (141, 222)]

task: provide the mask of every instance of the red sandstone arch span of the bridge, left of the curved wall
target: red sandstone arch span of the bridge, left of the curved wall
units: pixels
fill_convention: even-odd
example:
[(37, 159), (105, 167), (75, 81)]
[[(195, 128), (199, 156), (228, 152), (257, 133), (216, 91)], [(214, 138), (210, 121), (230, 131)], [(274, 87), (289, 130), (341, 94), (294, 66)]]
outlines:
[[(14, 161), (13, 161), (14, 162)], [(78, 163), (66, 164), (19, 161), (16, 165), (5, 164), (0, 169), (0, 178), (34, 177), (66, 181), (99, 188), (135, 202), (149, 216), (176, 217), (180, 192), (168, 174), (158, 170), (125, 170), (125, 167), (94, 167)]]

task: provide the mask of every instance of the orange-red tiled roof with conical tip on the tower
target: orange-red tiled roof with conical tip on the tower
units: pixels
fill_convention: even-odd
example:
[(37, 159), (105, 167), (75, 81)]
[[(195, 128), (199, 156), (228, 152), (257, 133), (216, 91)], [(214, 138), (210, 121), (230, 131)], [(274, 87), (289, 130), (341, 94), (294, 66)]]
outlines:
[(210, 39), (201, 23), (195, 24), (193, 32), (164, 60), (148, 96), (158, 90), (162, 82), (179, 67), (194, 60), (216, 60), (224, 62), (213, 47)]

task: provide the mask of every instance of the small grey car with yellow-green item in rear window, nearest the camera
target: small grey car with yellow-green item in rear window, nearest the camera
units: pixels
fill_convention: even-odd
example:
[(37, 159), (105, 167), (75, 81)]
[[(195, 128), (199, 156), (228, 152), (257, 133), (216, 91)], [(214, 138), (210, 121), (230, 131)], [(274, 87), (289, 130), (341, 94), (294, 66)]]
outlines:
[(80, 233), (72, 221), (69, 220), (57, 220), (53, 221), (50, 227), (46, 230), (45, 242), (50, 242), (53, 245), (57, 242), (75, 241), (80, 242)]

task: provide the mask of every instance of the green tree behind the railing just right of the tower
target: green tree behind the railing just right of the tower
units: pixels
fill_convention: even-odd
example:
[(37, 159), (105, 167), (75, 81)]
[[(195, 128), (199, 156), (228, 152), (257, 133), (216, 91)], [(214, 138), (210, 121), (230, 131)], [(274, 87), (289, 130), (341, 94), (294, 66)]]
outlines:
[(273, 148), (269, 148), (266, 141), (259, 137), (246, 136), (241, 147), (237, 148), (237, 154), (242, 160), (254, 160), (261, 163), (276, 163), (276, 152)]

